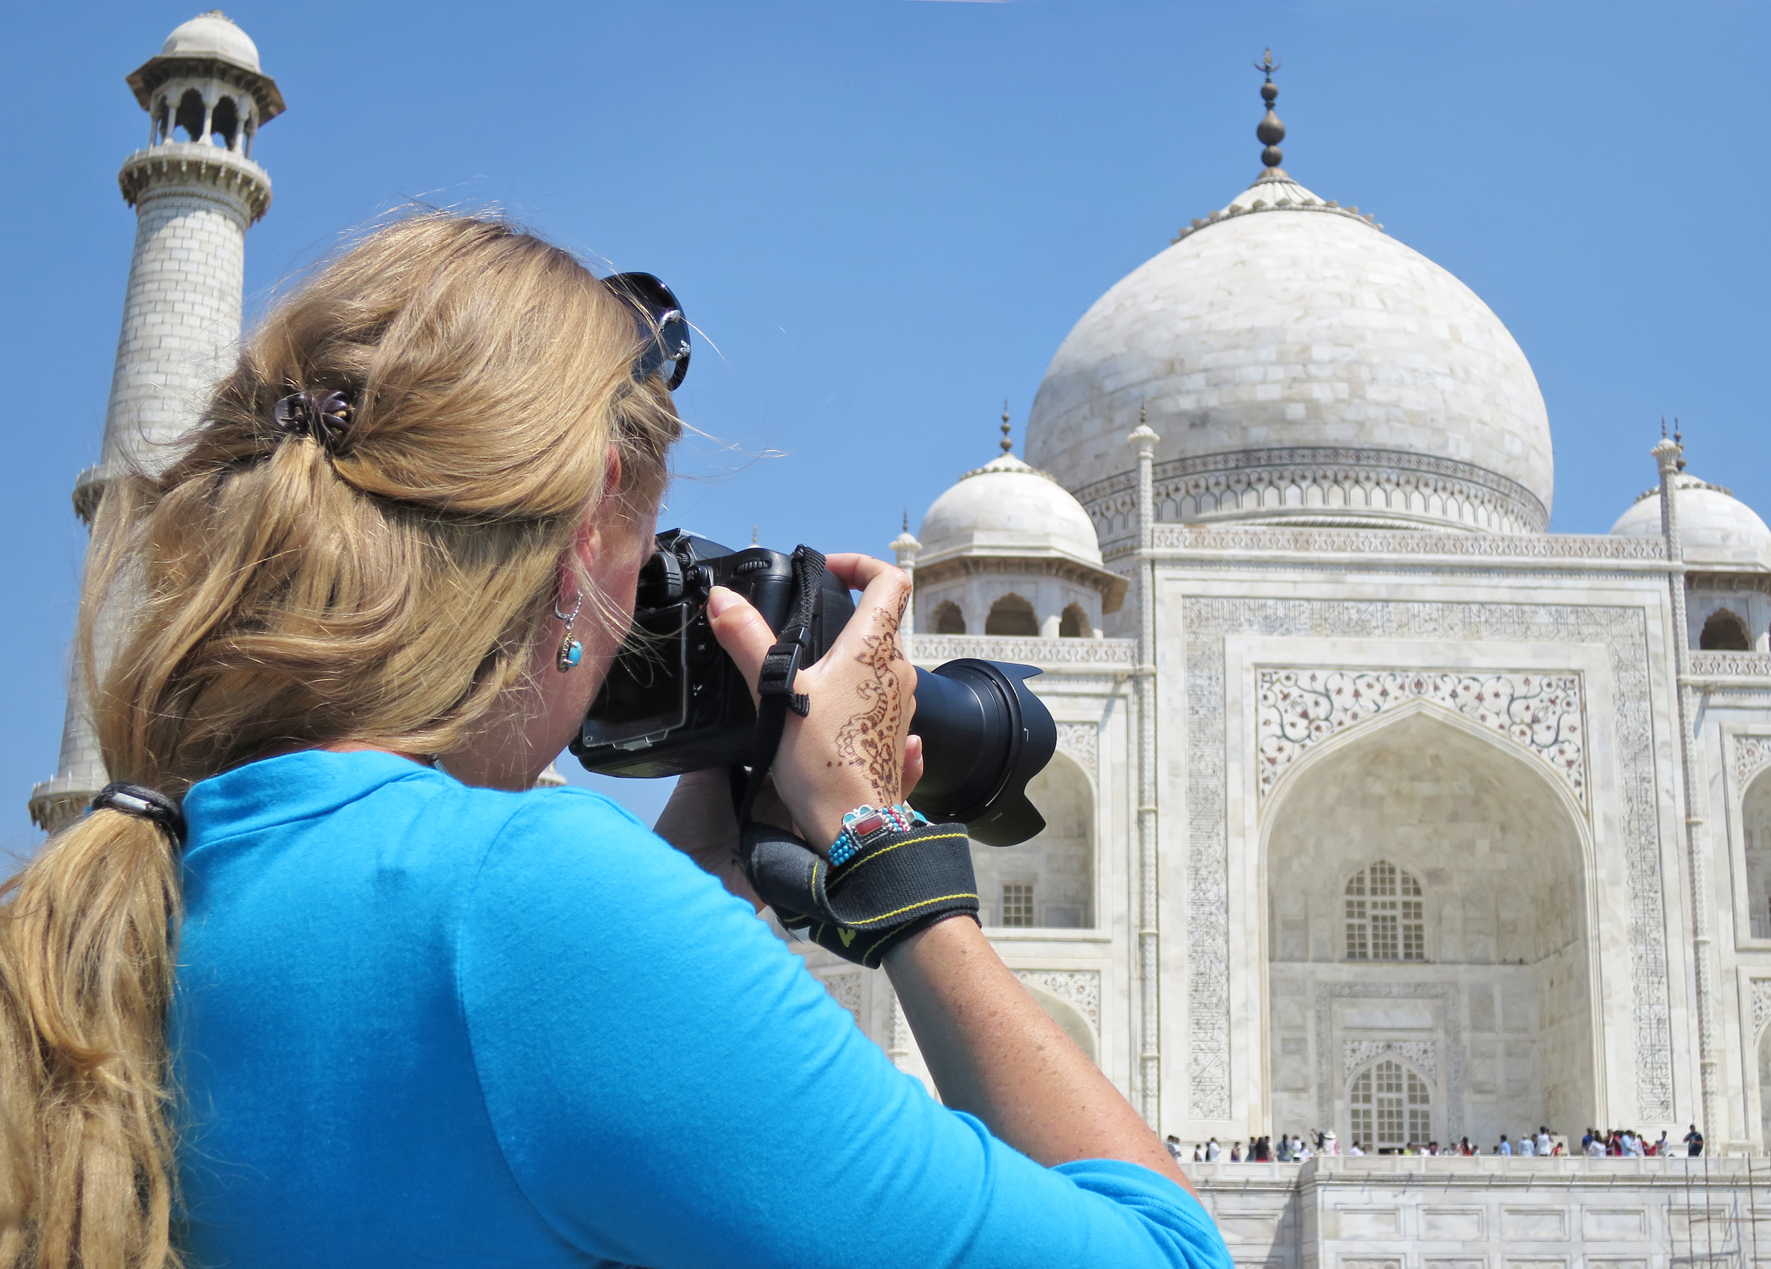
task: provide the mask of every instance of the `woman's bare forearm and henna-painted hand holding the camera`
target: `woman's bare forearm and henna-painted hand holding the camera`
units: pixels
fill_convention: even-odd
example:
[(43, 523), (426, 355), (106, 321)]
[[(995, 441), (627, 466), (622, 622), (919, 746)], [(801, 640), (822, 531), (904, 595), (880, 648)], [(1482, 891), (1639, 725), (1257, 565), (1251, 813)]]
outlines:
[[(811, 711), (788, 720), (774, 766), (783, 801), (818, 851), (829, 849), (845, 812), (901, 799), (916, 711), (916, 672), (898, 636), (909, 578), (861, 555), (831, 557), (829, 567), (862, 590), (861, 603), (836, 645), (800, 672), (795, 686)], [(769, 624), (721, 588), (708, 615), (754, 684), (774, 643)], [(891, 952), (886, 969), (947, 1106), (974, 1113), (1047, 1166), (1121, 1159), (1187, 1186), (1156, 1134), (1015, 980), (974, 922), (928, 927)]]

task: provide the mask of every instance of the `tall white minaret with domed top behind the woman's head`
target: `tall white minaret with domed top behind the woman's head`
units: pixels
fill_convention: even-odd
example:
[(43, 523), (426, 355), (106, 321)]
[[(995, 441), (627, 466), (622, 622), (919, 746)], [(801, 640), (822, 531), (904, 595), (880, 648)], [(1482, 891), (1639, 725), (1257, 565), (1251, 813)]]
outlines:
[[(220, 9), (174, 30), (128, 83), (147, 112), (147, 147), (117, 174), (136, 214), (135, 255), (104, 443), (97, 466), (74, 482), (74, 512), (89, 525), (108, 480), (170, 459), (234, 360), (246, 230), (271, 206), (271, 177), (251, 161), (251, 144), (283, 113), (259, 48)], [(30, 817), (53, 833), (104, 783), (76, 666), (57, 775), (32, 790)]]

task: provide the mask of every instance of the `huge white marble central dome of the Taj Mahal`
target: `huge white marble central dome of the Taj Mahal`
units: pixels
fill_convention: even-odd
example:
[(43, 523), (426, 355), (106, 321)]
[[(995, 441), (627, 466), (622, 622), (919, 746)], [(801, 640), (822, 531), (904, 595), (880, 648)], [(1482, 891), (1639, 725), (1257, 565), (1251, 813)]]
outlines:
[(1550, 420), (1507, 328), (1369, 216), (1277, 170), (1116, 284), (1045, 372), (1027, 459), (1103, 537), (1141, 408), (1162, 436), (1162, 519), (1550, 521)]

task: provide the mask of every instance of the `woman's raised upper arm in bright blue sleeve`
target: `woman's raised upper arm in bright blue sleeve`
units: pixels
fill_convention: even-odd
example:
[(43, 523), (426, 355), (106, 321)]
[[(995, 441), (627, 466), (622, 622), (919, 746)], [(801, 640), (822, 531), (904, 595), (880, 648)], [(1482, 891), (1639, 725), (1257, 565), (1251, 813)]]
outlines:
[(526, 799), (478, 868), (455, 966), (498, 1148), (595, 1258), (1231, 1269), (1167, 1177), (1041, 1166), (937, 1104), (744, 904), (593, 794)]

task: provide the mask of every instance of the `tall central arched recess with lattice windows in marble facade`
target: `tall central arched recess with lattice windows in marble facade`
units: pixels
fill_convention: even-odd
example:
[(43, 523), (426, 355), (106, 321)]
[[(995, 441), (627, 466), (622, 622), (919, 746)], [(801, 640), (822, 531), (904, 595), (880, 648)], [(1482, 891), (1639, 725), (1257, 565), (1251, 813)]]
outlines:
[(1484, 1148), (1596, 1122), (1585, 833), (1537, 759), (1422, 704), (1325, 741), (1263, 819), (1275, 1131), (1374, 1131), (1380, 1083), (1404, 1141), (1410, 1113)]

